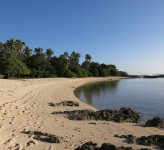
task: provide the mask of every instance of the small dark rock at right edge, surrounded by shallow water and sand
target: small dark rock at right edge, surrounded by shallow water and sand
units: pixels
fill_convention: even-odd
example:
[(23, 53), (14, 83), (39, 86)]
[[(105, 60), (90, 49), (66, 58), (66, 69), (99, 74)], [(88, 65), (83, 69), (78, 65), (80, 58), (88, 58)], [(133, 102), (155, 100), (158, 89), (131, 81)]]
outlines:
[(159, 117), (155, 117), (153, 119), (148, 120), (145, 123), (145, 127), (164, 127), (164, 120)]

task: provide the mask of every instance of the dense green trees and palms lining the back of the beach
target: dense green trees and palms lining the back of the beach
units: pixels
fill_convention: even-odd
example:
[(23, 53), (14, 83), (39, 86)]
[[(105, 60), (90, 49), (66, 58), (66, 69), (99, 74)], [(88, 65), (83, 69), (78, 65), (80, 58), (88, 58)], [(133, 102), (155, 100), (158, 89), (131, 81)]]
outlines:
[(128, 76), (118, 71), (115, 65), (93, 62), (91, 55), (85, 55), (80, 64), (80, 53), (64, 52), (59, 57), (52, 49), (35, 48), (33, 51), (19, 39), (0, 42), (0, 74), (9, 77), (105, 77)]

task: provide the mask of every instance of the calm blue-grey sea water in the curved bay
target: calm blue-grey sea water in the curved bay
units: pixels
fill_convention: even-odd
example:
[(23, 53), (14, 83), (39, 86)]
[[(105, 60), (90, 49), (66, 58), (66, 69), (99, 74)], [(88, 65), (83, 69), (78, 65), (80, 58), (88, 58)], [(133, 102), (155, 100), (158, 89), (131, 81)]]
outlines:
[(164, 78), (90, 83), (77, 88), (75, 95), (98, 109), (130, 107), (142, 120), (164, 118)]

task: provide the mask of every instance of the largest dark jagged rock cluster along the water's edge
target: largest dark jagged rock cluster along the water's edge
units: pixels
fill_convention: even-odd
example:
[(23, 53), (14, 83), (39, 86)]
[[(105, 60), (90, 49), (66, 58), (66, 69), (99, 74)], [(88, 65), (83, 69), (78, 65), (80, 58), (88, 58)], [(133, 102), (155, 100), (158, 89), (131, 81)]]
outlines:
[(120, 110), (74, 110), (64, 112), (54, 112), (53, 114), (66, 114), (70, 120), (104, 120), (114, 122), (138, 123), (140, 115), (138, 112), (122, 107)]

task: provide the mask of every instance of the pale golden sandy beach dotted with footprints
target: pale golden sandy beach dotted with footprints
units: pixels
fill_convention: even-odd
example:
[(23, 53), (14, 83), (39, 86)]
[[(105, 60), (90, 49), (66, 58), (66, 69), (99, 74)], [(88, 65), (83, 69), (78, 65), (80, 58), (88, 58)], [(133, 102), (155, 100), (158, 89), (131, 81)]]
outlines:
[[(112, 80), (117, 78), (112, 78)], [(85, 79), (29, 79), (0, 80), (0, 150), (63, 150), (75, 149), (87, 141), (112, 143), (117, 146), (132, 146), (138, 149), (144, 146), (131, 145), (114, 135), (133, 134), (135, 136), (163, 134), (157, 128), (144, 128), (132, 123), (114, 123), (107, 121), (71, 121), (63, 115), (53, 115), (54, 111), (95, 108), (79, 101), (73, 90), (85, 83), (111, 80), (111, 78)], [(48, 103), (73, 100), (80, 107), (51, 107)], [(96, 124), (89, 124), (90, 122)], [(64, 138), (64, 142), (51, 144), (41, 142), (21, 133), (21, 131), (41, 131)], [(28, 143), (29, 142), (29, 143)], [(154, 149), (154, 147), (148, 147)]]

